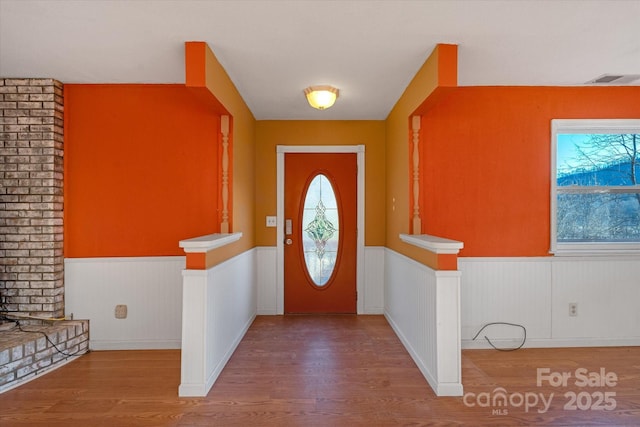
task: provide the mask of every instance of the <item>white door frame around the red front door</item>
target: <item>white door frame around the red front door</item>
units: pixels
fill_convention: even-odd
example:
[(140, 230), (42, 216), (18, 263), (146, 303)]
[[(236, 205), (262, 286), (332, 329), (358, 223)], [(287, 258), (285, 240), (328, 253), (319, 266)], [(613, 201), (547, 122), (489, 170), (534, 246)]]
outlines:
[(276, 146), (276, 314), (284, 314), (284, 163), (287, 153), (356, 153), (357, 202), (356, 224), (356, 303), (357, 313), (364, 311), (364, 145), (278, 145)]

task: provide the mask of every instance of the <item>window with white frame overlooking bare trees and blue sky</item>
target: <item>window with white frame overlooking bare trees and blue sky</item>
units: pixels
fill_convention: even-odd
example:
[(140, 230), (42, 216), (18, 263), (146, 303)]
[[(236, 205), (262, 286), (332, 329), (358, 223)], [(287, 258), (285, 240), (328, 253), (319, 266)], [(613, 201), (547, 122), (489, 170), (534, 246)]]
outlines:
[(551, 144), (551, 252), (640, 252), (640, 120), (552, 120)]

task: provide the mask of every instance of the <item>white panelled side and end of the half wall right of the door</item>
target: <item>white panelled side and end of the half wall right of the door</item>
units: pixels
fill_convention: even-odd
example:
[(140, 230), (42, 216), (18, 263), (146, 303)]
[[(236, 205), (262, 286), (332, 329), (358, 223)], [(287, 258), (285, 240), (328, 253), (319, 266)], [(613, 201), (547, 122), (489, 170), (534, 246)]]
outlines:
[(461, 396), (460, 272), (434, 271), (392, 250), (385, 316), (438, 396)]

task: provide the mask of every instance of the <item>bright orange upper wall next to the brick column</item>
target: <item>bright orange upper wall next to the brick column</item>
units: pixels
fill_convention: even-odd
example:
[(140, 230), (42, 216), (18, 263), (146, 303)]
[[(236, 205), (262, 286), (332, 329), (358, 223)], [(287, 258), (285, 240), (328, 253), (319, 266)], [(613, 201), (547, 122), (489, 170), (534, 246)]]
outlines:
[(217, 232), (218, 127), (183, 85), (65, 85), (65, 256), (184, 255)]

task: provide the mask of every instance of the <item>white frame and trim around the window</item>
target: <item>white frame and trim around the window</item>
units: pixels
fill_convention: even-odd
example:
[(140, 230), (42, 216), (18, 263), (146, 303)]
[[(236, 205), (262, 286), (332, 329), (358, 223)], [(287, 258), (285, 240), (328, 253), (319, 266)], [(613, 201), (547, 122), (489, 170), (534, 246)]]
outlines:
[[(571, 242), (559, 243), (557, 239), (558, 181), (557, 155), (558, 134), (640, 134), (640, 119), (552, 119), (551, 120), (551, 247), (554, 255), (611, 255), (640, 254), (640, 242)], [(594, 193), (597, 190), (593, 191)]]

